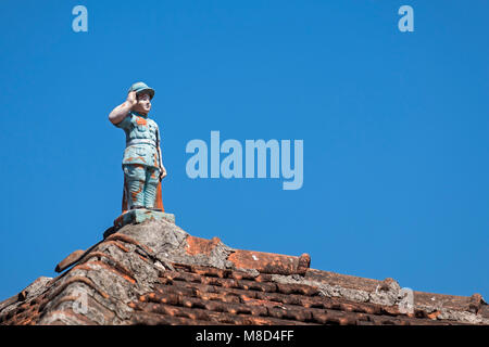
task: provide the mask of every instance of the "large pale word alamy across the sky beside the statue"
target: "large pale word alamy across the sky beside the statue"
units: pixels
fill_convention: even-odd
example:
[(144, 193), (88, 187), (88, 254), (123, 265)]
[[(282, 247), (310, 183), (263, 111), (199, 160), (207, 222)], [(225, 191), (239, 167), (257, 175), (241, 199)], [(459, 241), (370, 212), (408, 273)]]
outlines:
[[(290, 157), (290, 140), (244, 140), (228, 139), (221, 143), (220, 131), (211, 131), (211, 146), (200, 139), (190, 140), (185, 149), (193, 155), (187, 160), (186, 172), (191, 179), (197, 178), (281, 178), (284, 190), (299, 190), (304, 181), (303, 151), (304, 141), (293, 140), (293, 168)], [(221, 154), (226, 156), (221, 159)], [(268, 155), (269, 154), (269, 155)], [(211, 157), (211, 174), (209, 175), (209, 156)], [(269, 162), (269, 168), (267, 164)], [(255, 170), (256, 163), (256, 170)], [(244, 175), (243, 175), (244, 164)], [(255, 175), (256, 172), (256, 175)]]

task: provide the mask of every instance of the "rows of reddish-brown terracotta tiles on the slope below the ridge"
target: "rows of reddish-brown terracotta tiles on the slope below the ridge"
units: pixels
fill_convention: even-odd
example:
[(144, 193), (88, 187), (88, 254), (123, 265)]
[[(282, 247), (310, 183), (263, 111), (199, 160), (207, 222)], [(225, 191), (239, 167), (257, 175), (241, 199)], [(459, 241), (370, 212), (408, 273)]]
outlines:
[[(223, 275), (224, 272), (220, 272), (220, 281), (227, 281), (228, 285), (224, 282), (220, 282), (220, 285), (203, 284), (209, 283), (205, 275), (196, 277), (196, 274), (191, 267), (161, 273), (163, 281), (158, 291), (139, 297), (138, 301), (131, 303), (131, 307), (137, 311), (186, 318), (191, 318), (193, 312), (197, 314), (196, 320), (208, 320), (209, 323), (216, 322), (214, 316), (217, 313), (226, 313), (226, 319), (229, 319), (229, 314), (235, 314), (237, 316), (235, 322), (238, 322), (238, 318), (242, 322), (242, 317), (251, 316), (261, 317), (261, 322), (278, 319), (281, 323), (284, 321), (317, 324), (450, 323), (437, 322), (427, 316), (408, 317), (400, 313), (397, 308), (322, 297), (316, 288), (308, 285), (290, 286), (278, 283), (266, 290), (263, 287), (242, 290), (240, 281), (231, 279), (233, 272), (227, 272), (227, 277)], [(212, 318), (209, 312), (214, 312)], [(156, 317), (151, 316), (151, 320), (154, 322)]]

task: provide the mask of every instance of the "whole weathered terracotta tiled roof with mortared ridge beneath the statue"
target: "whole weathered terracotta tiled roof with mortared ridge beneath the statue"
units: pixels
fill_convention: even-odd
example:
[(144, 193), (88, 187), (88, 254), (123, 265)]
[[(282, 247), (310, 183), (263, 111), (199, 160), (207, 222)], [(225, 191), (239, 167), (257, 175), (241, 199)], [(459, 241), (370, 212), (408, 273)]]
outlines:
[(166, 221), (126, 226), (0, 303), (0, 324), (489, 324), (472, 297), (405, 292), (310, 269), (310, 257), (233, 249)]

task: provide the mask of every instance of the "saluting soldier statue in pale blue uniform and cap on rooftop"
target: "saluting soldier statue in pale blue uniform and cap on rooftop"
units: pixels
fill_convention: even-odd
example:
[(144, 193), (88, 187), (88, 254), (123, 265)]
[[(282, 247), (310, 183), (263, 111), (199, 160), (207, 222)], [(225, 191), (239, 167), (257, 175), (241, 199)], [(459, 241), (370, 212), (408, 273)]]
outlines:
[(126, 133), (123, 213), (147, 208), (163, 211), (161, 180), (166, 176), (160, 149), (160, 130), (148, 118), (154, 90), (143, 82), (129, 88), (127, 100), (115, 107), (109, 120)]

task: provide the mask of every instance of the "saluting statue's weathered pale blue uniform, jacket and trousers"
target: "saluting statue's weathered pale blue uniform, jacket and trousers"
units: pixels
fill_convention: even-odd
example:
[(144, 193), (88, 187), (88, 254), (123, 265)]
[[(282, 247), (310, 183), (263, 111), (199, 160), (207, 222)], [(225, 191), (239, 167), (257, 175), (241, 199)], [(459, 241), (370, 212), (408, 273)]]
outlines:
[(160, 175), (160, 130), (154, 120), (130, 112), (115, 125), (126, 133), (123, 170), (129, 205), (153, 207)]

